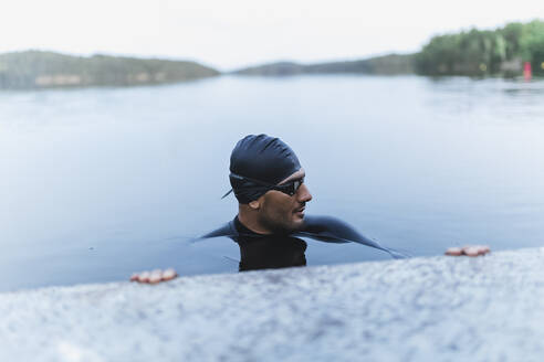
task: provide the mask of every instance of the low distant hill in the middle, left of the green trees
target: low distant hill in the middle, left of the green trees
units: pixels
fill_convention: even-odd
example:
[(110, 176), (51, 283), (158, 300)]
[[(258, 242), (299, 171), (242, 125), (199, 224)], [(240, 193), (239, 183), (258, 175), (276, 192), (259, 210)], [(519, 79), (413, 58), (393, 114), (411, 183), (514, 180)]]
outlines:
[(247, 67), (233, 72), (243, 75), (296, 75), (296, 74), (410, 74), (415, 72), (414, 55), (389, 54), (367, 60), (349, 62), (331, 62), (316, 64), (300, 64), (278, 62), (260, 66)]

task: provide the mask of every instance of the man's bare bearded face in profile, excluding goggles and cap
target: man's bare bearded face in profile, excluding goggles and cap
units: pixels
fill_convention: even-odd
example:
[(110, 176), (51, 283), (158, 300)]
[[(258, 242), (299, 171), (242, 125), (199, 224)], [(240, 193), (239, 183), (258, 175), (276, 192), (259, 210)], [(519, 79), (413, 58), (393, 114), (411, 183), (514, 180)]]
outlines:
[[(279, 184), (289, 183), (293, 180), (302, 180), (304, 175), (305, 172), (301, 169)], [(312, 200), (312, 194), (306, 185), (302, 183), (292, 196), (281, 191), (271, 190), (260, 199), (260, 223), (274, 233), (291, 233), (302, 227), (304, 209), (306, 202)]]

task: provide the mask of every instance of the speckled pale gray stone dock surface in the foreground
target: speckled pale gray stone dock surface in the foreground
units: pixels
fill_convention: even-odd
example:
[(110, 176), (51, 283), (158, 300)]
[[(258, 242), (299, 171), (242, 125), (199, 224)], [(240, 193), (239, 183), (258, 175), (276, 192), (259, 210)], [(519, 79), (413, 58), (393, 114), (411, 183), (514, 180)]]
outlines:
[(542, 361), (544, 248), (0, 294), (0, 361)]

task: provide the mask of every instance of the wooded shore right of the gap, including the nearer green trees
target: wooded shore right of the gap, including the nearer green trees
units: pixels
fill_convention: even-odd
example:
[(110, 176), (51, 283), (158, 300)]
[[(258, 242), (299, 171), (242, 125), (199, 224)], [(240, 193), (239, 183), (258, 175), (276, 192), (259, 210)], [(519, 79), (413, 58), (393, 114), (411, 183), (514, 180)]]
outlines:
[(430, 39), (416, 54), (321, 64), (271, 63), (233, 72), (244, 75), (326, 73), (519, 76), (531, 63), (544, 76), (544, 22), (509, 23), (495, 30), (462, 31)]

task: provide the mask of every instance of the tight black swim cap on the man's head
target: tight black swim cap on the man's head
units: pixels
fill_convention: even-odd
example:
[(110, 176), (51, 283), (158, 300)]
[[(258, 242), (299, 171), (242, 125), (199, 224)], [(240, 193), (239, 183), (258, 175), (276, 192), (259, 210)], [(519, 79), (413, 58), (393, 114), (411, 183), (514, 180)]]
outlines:
[[(238, 141), (230, 156), (230, 184), (240, 203), (259, 199), (301, 169), (294, 151), (281, 139), (250, 135)], [(259, 182), (252, 182), (252, 179)]]

